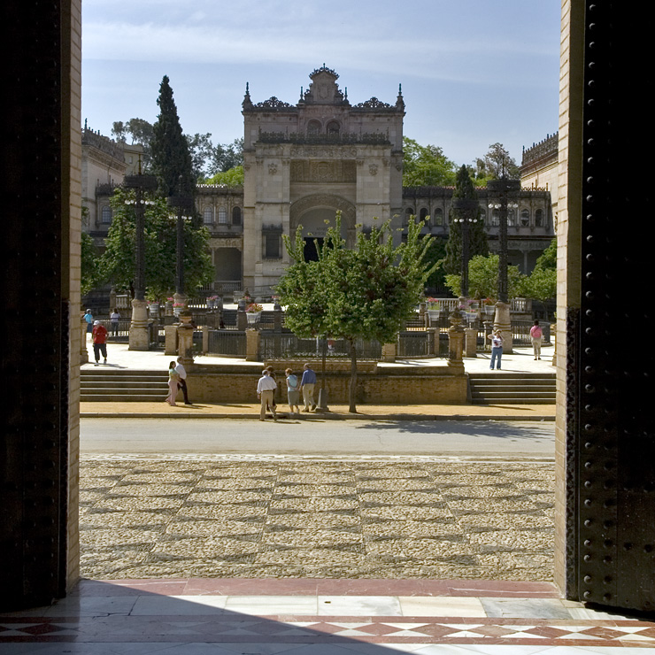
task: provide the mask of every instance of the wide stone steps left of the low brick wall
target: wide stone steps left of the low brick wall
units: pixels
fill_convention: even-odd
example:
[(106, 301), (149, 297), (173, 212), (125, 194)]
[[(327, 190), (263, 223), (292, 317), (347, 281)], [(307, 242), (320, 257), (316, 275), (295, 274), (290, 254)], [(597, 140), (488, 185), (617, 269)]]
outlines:
[(168, 395), (166, 371), (82, 370), (82, 403), (143, 403), (164, 400)]

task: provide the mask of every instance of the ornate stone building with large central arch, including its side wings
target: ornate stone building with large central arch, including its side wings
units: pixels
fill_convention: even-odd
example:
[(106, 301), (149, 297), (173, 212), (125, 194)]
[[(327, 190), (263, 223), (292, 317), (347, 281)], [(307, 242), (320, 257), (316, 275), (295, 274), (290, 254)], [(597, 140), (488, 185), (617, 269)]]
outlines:
[[(373, 97), (351, 104), (339, 89), (335, 71), (325, 65), (310, 74), (296, 104), (269, 98), (243, 98), (244, 184), (200, 184), (196, 208), (211, 234), (215, 277), (212, 290), (231, 294), (248, 289), (270, 296), (289, 257), (282, 235), (294, 238), (302, 226), (307, 256), (314, 239), (326, 234), (342, 212), (343, 236), (352, 244), (358, 229), (374, 218), (391, 219), (394, 228), (409, 216), (428, 217), (425, 232), (447, 239), (454, 189), (402, 186), (405, 102)], [(555, 139), (555, 165), (551, 141)], [(112, 222), (109, 198), (125, 174), (138, 165), (140, 146), (114, 143), (82, 132), (82, 196), (89, 208), (85, 229), (99, 244)], [(544, 171), (557, 173), (557, 139), (549, 137), (523, 155), (519, 208), (509, 215), (509, 262), (529, 273), (554, 235), (551, 197), (557, 188)], [(488, 208), (486, 189), (478, 189), (489, 250), (497, 250), (498, 215)], [(360, 226), (360, 227), (358, 227)], [(394, 238), (402, 232), (394, 230)]]

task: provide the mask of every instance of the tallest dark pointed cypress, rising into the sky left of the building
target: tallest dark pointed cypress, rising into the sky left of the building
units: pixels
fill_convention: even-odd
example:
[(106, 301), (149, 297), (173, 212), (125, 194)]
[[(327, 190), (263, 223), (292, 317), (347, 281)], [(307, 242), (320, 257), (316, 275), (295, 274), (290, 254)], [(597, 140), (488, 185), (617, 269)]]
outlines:
[(191, 196), (196, 178), (189, 152), (189, 142), (182, 134), (173, 89), (164, 75), (157, 99), (159, 115), (152, 126), (152, 169), (157, 175), (161, 196)]

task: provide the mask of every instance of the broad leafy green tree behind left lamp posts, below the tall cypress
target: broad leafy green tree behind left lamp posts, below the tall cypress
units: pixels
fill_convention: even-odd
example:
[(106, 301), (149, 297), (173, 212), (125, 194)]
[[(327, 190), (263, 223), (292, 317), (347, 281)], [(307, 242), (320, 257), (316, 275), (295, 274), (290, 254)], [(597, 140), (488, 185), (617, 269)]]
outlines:
[[(118, 188), (112, 196), (113, 219), (100, 260), (104, 280), (134, 296), (135, 279), (135, 194)], [(163, 298), (175, 289), (177, 219), (166, 199), (150, 199), (145, 205), (145, 282), (150, 297)], [(193, 295), (213, 279), (209, 254), (209, 232), (184, 223), (185, 293)]]

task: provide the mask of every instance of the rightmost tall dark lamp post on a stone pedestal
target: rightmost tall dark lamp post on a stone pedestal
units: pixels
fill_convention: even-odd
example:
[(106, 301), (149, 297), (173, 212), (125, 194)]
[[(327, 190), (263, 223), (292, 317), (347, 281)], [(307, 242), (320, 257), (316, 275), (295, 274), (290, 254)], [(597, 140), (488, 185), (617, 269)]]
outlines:
[(509, 305), (509, 281), (507, 278), (507, 212), (518, 208), (512, 195), (520, 191), (520, 181), (510, 180), (505, 173), (499, 180), (487, 182), (489, 209), (498, 211), (498, 301), (494, 329), (499, 329), (505, 338), (503, 351), (512, 352), (512, 320)]

